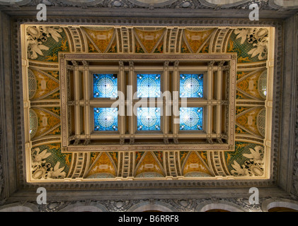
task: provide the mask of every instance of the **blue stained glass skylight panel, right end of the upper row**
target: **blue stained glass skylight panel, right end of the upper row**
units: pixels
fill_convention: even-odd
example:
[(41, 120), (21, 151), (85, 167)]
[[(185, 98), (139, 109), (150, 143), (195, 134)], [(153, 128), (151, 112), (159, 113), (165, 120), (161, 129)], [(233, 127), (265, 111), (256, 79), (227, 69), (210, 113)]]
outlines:
[(180, 74), (180, 97), (203, 97), (203, 74)]

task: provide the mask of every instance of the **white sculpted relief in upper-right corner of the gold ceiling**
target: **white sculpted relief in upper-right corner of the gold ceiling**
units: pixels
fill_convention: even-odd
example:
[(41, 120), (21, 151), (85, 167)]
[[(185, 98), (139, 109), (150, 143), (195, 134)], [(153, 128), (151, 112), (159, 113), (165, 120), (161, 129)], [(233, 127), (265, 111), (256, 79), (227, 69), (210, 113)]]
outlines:
[(268, 57), (268, 30), (265, 28), (243, 28), (236, 29), (234, 33), (237, 35), (236, 40), (241, 39), (240, 43), (248, 42), (248, 44), (253, 44), (253, 49), (251, 49), (248, 54), (251, 57), (258, 56), (258, 59), (264, 60)]

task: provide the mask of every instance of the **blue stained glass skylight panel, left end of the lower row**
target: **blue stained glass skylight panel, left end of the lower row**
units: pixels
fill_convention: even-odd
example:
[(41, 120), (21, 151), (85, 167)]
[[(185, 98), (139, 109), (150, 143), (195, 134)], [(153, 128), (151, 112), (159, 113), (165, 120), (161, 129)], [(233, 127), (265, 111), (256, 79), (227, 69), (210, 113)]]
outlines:
[(94, 108), (95, 131), (118, 131), (118, 108)]

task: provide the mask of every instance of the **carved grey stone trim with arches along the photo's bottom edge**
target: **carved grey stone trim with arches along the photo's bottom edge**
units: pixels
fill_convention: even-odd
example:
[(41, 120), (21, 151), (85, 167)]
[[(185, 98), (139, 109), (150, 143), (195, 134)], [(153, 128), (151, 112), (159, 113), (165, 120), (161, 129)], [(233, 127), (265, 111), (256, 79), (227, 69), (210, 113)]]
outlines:
[(174, 198), (151, 198), (142, 196), (138, 199), (109, 198), (97, 200), (96, 198), (79, 198), (79, 200), (56, 200), (47, 201), (47, 204), (37, 205), (34, 198), (26, 203), (12, 200), (1, 206), (0, 210), (31, 210), (34, 212), (135, 212), (156, 210), (168, 212), (201, 212), (212, 208), (223, 208), (232, 212), (268, 212), (268, 209), (276, 205), (285, 206), (294, 210), (298, 209), (298, 201), (290, 196), (262, 196), (259, 204), (249, 204), (245, 196), (218, 198), (218, 197), (174, 197)]

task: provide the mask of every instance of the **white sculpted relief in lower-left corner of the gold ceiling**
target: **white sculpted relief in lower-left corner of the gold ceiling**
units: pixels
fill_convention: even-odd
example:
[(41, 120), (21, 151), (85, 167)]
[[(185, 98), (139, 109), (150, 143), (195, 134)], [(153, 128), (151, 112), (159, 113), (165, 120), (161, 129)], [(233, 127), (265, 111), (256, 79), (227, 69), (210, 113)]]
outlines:
[(32, 152), (32, 177), (33, 179), (63, 179), (67, 176), (63, 172), (64, 167), (59, 168), (60, 162), (52, 167), (50, 162), (46, 162), (46, 158), (52, 155), (47, 153), (47, 149), (40, 152), (40, 148), (35, 148)]

